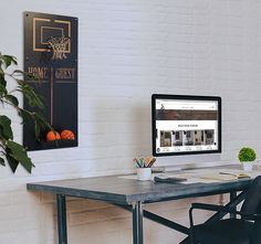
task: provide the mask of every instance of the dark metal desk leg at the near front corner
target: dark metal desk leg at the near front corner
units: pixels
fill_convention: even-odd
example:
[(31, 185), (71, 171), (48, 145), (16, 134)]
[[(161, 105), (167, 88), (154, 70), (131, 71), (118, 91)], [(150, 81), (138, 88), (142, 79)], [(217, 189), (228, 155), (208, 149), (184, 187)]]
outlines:
[(143, 244), (143, 205), (142, 202), (133, 204), (133, 244)]

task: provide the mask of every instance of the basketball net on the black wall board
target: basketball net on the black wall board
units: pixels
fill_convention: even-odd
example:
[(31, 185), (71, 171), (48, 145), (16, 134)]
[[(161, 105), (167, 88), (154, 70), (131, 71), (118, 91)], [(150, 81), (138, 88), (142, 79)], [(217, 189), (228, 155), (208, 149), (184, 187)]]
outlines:
[(66, 45), (71, 42), (70, 38), (62, 35), (61, 38), (53, 38), (48, 41), (53, 51), (52, 60), (65, 60)]

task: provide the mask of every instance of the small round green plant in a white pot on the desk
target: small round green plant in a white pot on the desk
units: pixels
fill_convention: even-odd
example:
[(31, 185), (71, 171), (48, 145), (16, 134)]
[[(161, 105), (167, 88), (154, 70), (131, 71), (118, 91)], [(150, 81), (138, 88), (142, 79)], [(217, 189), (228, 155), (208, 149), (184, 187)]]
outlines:
[(244, 171), (251, 171), (253, 168), (253, 162), (257, 159), (257, 153), (254, 149), (243, 147), (239, 150), (238, 159), (242, 163)]

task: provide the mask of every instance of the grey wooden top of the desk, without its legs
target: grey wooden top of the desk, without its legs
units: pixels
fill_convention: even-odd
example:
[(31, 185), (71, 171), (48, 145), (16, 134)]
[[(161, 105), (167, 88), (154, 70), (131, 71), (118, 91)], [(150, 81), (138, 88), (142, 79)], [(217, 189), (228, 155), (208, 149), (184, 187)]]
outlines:
[(217, 183), (169, 184), (111, 176), (28, 183), (27, 188), (32, 191), (132, 204), (137, 201), (158, 202), (240, 191), (248, 188), (251, 181), (240, 179)]

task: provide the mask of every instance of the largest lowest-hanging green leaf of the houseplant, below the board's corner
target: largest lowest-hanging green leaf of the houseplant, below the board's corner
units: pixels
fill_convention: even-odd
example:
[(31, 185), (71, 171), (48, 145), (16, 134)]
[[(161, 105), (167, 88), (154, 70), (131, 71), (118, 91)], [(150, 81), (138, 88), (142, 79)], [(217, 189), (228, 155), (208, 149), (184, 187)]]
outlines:
[(20, 144), (9, 140), (7, 141), (7, 148), (10, 150), (9, 157), (17, 160), (22, 165), (22, 167), (31, 173), (32, 167), (34, 165), (32, 163), (31, 159), (28, 157), (28, 152), (24, 147), (22, 147)]

